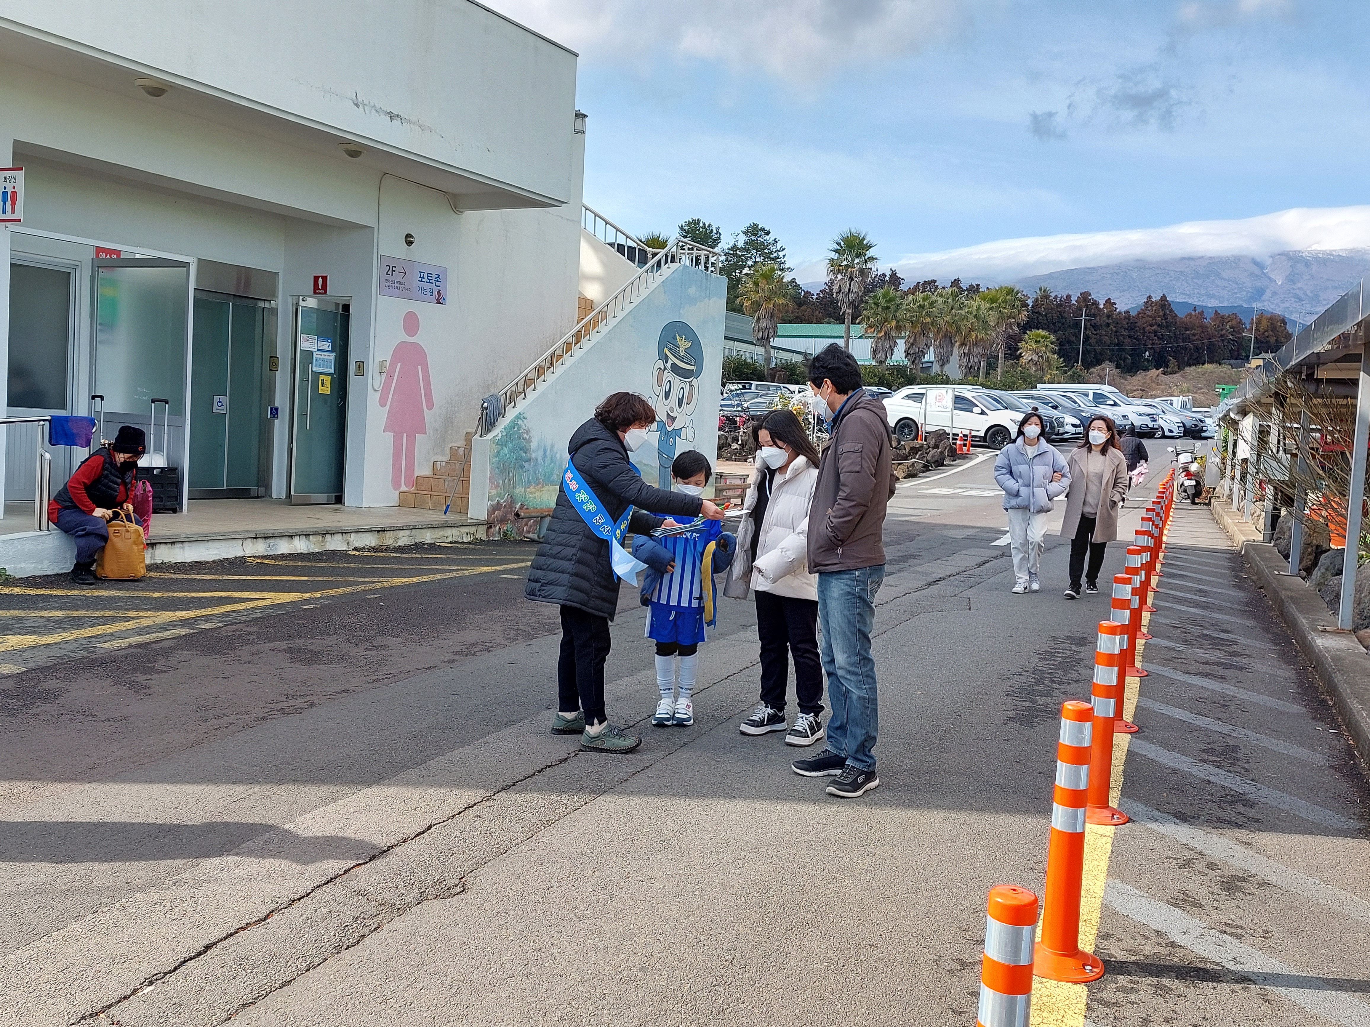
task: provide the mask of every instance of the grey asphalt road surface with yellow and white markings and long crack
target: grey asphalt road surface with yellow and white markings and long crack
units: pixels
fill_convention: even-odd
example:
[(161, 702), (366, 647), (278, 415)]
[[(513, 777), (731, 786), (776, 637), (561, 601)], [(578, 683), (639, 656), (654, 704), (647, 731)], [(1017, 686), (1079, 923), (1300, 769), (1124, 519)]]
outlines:
[[(1045, 590), (1008, 593), (989, 467), (892, 505), (882, 786), (855, 802), (737, 734), (748, 604), (703, 649), (696, 726), (652, 728), (625, 592), (610, 713), (645, 744), (548, 735), (526, 545), (0, 593), (0, 1023), (973, 1023), (985, 893), (1041, 890), (1056, 715), (1107, 611), (1062, 600), (1056, 538)], [(1043, 987), (1034, 1022), (1370, 1024), (1365, 779), (1206, 509), (1169, 553), (1134, 823), (1091, 837), (1110, 972), (1088, 1011)]]

